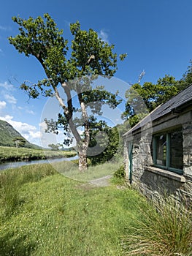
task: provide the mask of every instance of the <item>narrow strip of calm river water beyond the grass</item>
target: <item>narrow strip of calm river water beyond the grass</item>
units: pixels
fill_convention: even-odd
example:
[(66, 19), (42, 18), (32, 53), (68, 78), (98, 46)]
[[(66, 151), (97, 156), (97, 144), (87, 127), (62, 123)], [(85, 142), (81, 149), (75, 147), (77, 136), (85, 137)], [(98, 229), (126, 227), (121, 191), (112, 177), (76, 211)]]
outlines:
[(63, 158), (55, 158), (55, 159), (44, 159), (44, 160), (33, 160), (33, 161), (23, 161), (23, 162), (3, 162), (0, 164), (0, 170), (6, 170), (9, 168), (17, 168), (23, 165), (34, 165), (34, 164), (45, 164), (52, 162), (62, 162), (62, 161), (71, 161), (77, 159), (78, 156), (75, 157), (63, 157)]

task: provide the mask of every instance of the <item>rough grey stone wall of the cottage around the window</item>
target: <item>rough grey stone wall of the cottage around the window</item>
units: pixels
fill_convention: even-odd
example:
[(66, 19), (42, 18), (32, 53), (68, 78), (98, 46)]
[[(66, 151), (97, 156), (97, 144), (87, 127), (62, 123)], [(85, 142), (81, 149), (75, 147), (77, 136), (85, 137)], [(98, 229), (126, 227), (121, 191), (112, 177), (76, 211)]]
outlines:
[[(152, 134), (145, 131), (132, 137), (132, 181), (147, 197), (159, 193), (175, 195), (192, 203), (192, 121), (183, 124), (183, 175), (153, 167)], [(127, 146), (127, 143), (125, 144)], [(126, 154), (128, 163), (128, 154)], [(126, 165), (128, 178), (128, 164)]]

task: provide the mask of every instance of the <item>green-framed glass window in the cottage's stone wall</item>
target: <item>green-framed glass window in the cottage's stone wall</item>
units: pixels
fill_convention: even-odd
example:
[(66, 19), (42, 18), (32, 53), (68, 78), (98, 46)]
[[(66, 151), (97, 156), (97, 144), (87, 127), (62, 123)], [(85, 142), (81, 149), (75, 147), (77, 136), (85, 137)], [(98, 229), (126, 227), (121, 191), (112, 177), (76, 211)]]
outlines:
[(153, 137), (153, 163), (157, 167), (183, 173), (183, 133), (166, 132)]

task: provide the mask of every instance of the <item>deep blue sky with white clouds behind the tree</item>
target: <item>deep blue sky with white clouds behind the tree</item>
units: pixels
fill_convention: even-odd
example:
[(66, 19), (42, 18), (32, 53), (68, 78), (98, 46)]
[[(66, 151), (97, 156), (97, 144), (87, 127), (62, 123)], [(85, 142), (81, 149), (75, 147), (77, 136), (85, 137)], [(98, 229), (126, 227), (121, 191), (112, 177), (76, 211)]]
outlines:
[(0, 118), (31, 143), (40, 144), (39, 124), (47, 99), (28, 102), (19, 85), (23, 80), (35, 83), (45, 74), (33, 57), (26, 58), (9, 45), (7, 37), (18, 34), (12, 16), (36, 18), (48, 12), (69, 40), (69, 23), (79, 20), (82, 29), (94, 29), (115, 44), (115, 52), (128, 54), (118, 62), (116, 78), (136, 83), (145, 69), (141, 83), (155, 83), (166, 74), (180, 79), (187, 70), (192, 59), (191, 11), (191, 0), (4, 1), (0, 9)]

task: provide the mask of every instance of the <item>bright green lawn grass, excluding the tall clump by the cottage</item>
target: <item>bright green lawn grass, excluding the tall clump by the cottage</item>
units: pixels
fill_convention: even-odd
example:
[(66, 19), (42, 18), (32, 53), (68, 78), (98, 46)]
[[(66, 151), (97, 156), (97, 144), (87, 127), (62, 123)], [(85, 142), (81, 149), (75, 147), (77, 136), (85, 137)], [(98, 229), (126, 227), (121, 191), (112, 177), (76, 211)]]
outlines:
[[(0, 180), (4, 256), (122, 255), (120, 236), (130, 216), (139, 217), (138, 207), (146, 204), (133, 190), (86, 186), (56, 173), (51, 165), (7, 170)], [(8, 197), (15, 193), (14, 202), (5, 200), (4, 187), (9, 185)]]

